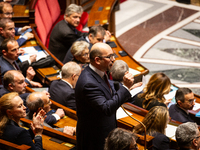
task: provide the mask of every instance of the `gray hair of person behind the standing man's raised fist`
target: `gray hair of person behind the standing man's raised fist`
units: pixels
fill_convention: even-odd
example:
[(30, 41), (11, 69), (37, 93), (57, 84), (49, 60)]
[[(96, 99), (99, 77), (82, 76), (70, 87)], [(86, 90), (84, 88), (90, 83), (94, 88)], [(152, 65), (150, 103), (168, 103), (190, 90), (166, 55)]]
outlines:
[(129, 70), (127, 63), (123, 60), (116, 60), (110, 70), (114, 81), (123, 81), (125, 72)]

